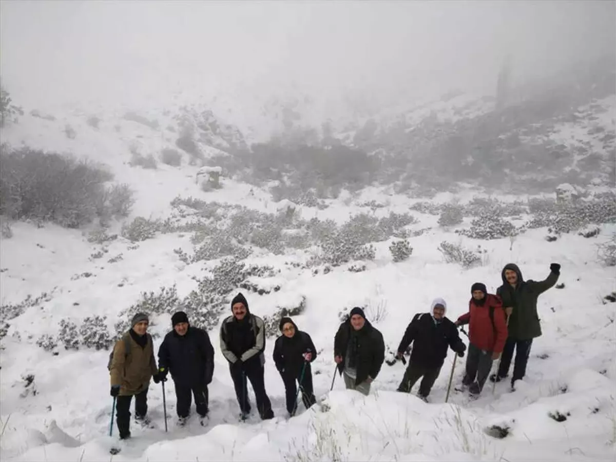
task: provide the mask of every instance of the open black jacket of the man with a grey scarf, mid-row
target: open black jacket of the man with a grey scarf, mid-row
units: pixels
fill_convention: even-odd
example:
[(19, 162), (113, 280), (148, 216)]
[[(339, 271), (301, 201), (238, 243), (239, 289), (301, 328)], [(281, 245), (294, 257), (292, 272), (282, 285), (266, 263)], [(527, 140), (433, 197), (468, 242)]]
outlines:
[[(351, 319), (340, 324), (334, 337), (334, 356), (342, 357), (338, 365), (338, 371), (342, 374), (346, 364), (346, 354), (351, 340)], [(376, 379), (385, 360), (385, 342), (383, 335), (374, 328), (370, 321), (366, 321), (363, 328), (357, 334), (357, 377), (355, 383), (364, 382), (368, 376)]]

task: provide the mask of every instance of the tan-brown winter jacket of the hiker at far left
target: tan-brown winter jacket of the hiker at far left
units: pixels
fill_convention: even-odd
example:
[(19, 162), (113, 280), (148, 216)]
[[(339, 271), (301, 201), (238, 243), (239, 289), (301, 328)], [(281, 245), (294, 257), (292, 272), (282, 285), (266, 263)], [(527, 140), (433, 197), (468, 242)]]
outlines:
[[(157, 372), (152, 337), (146, 338), (145, 346), (141, 347), (128, 331), (113, 347), (109, 373), (111, 386), (120, 385), (120, 396), (136, 395), (147, 390), (150, 379)], [(124, 347), (125, 339), (131, 343), (129, 355), (126, 355)]]

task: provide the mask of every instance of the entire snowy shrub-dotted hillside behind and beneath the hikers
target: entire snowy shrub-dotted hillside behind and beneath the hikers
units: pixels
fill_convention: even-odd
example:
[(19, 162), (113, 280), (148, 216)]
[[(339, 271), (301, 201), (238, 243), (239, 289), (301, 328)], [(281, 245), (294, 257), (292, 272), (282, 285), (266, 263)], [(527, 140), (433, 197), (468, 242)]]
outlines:
[[(209, 423), (176, 426), (169, 381), (165, 432), (162, 390), (151, 384), (155, 428), (132, 424), (134, 439), (113, 460), (612, 460), (614, 91), (580, 91), (547, 109), (529, 97), (498, 111), (490, 99), (450, 94), (347, 112), (324, 126), (328, 111), (310, 112), (310, 99), (262, 99), (269, 106), (260, 123), (224, 113), (241, 104), (219, 100), (24, 107), (2, 128), (4, 166), (21, 167), (23, 153), (46, 159), (37, 150), (72, 154), (134, 200), (116, 217), (101, 206), (67, 227), (75, 210), (60, 200), (39, 210), (5, 194), (36, 197), (28, 184), (55, 194), (65, 184), (44, 174), (51, 168), (33, 160), (43, 176), (34, 179), (2, 172), (2, 460), (107, 460), (115, 440), (106, 436), (108, 349), (137, 310), (150, 313), (157, 349), (180, 308), (216, 349)], [(67, 171), (64, 181), (81, 179), (71, 177), (81, 170)], [(20, 189), (4, 189), (9, 183)], [(412, 316), (444, 297), (455, 320), (471, 284), (495, 291), (509, 262), (535, 280), (550, 263), (562, 265), (562, 287), (539, 299), (543, 336), (524, 381), (514, 392), (498, 384), (494, 394), (488, 384), (475, 402), (454, 393), (445, 404), (450, 353), (429, 403), (395, 392), (403, 366), (393, 352)], [(267, 324), (275, 419), (265, 423), (237, 422), (218, 347), (237, 291)], [(345, 392), (340, 377), (330, 392), (333, 335), (354, 306), (383, 332), (391, 363), (367, 398)], [(319, 403), (288, 420), (271, 359), (284, 310), (296, 313), (319, 354)], [(454, 384), (462, 374), (458, 360)]]

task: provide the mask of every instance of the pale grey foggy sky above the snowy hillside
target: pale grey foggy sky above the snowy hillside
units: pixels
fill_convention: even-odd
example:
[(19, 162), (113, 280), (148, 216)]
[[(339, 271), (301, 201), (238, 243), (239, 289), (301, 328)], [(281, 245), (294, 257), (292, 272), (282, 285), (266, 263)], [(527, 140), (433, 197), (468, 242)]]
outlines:
[(17, 103), (164, 104), (232, 92), (383, 102), (517, 81), (616, 53), (610, 1), (1, 2)]

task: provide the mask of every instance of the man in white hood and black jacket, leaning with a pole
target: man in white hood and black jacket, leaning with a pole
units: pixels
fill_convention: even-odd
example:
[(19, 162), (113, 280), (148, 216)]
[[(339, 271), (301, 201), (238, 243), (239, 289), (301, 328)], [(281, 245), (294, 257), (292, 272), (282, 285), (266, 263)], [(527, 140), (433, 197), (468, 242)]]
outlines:
[(411, 388), (421, 377), (419, 384), (419, 398), (428, 401), (428, 395), (440, 374), (447, 357), (447, 348), (450, 347), (464, 357), (466, 345), (460, 340), (456, 325), (445, 318), (447, 303), (443, 299), (434, 299), (430, 313), (415, 315), (398, 346), (398, 358), (402, 358), (408, 345), (413, 342), (413, 351), (404, 373), (399, 392), (410, 393)]

